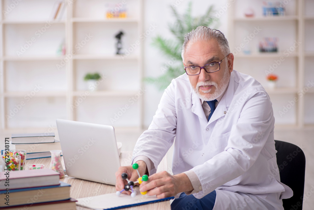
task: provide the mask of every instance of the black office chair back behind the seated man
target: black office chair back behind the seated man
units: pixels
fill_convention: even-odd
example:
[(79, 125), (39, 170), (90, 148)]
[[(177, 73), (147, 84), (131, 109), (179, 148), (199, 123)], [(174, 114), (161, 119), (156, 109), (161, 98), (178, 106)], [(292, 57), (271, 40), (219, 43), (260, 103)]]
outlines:
[(305, 155), (300, 147), (275, 140), (277, 150), (277, 165), (280, 171), (280, 181), (293, 190), (293, 196), (283, 199), (284, 209), (302, 210), (304, 178), (305, 178)]

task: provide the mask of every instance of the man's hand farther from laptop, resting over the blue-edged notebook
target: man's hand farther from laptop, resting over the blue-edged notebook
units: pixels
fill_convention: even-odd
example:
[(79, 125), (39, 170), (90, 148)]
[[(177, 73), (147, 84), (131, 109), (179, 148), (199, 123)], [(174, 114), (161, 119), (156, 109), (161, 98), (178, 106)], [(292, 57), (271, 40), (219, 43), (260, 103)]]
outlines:
[(157, 198), (175, 196), (179, 192), (192, 191), (191, 181), (186, 174), (171, 175), (166, 171), (149, 176), (148, 181), (143, 181), (140, 191), (147, 191), (147, 195), (156, 195)]

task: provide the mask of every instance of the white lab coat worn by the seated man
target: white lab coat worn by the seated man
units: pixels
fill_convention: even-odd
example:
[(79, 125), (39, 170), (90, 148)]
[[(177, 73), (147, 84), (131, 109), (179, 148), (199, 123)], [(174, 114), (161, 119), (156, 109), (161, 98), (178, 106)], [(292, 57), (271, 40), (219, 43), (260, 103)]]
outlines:
[(214, 209), (223, 209), (225, 202), (232, 207), (232, 199), (220, 196), (224, 191), (253, 194), (256, 201), (263, 199), (274, 209), (283, 209), (281, 200), (266, 198), (269, 193), (277, 193), (280, 199), (292, 196), (292, 190), (279, 181), (273, 129), (272, 103), (251, 76), (233, 70), (207, 122), (200, 99), (184, 74), (165, 90), (149, 129), (136, 143), (133, 158), (148, 157), (154, 163), (150, 173), (155, 173), (174, 143), (173, 174), (196, 173), (202, 185), (202, 191), (193, 193), (196, 198), (217, 189)]

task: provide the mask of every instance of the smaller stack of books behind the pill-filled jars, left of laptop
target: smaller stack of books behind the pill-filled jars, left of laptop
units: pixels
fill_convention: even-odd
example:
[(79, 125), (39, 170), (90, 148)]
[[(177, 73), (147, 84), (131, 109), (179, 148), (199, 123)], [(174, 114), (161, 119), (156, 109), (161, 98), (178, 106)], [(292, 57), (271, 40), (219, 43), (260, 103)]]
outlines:
[(10, 149), (26, 150), (26, 159), (49, 158), (49, 151), (61, 150), (61, 145), (54, 133), (12, 134)]

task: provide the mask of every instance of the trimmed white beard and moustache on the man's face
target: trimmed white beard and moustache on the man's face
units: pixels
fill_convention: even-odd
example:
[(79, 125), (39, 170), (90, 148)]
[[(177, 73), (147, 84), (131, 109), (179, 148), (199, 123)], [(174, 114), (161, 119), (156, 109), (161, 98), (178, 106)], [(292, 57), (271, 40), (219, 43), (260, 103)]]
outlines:
[[(222, 69), (220, 69), (220, 70), (222, 70)], [(198, 82), (196, 84), (195, 88), (192, 86), (192, 84), (191, 84), (191, 86), (192, 86), (193, 90), (195, 91), (196, 95), (198, 95), (198, 97), (200, 99), (202, 99), (203, 101), (212, 101), (212, 100), (217, 99), (219, 96), (221, 96), (221, 94), (226, 90), (226, 88), (229, 85), (229, 80), (230, 80), (230, 74), (229, 74), (228, 69), (226, 68), (224, 76), (222, 77), (222, 80), (221, 80), (221, 83), (220, 83), (220, 87), (218, 87), (218, 84), (216, 82), (213, 82), (213, 81), (207, 81), (207, 82), (201, 81), (201, 82)], [(210, 86), (210, 85), (215, 86), (214, 93), (209, 94), (209, 92), (212, 89), (203, 91), (203, 93), (208, 93), (208, 94), (201, 94), (199, 92), (199, 86)]]

